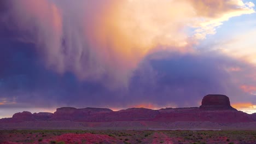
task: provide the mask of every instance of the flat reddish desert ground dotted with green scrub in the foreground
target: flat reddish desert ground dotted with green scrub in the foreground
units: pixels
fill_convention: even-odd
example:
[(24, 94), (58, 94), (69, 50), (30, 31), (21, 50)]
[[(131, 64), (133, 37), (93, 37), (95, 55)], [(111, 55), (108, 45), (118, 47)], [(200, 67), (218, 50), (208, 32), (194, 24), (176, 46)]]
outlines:
[(256, 131), (0, 130), (0, 143), (255, 144)]

